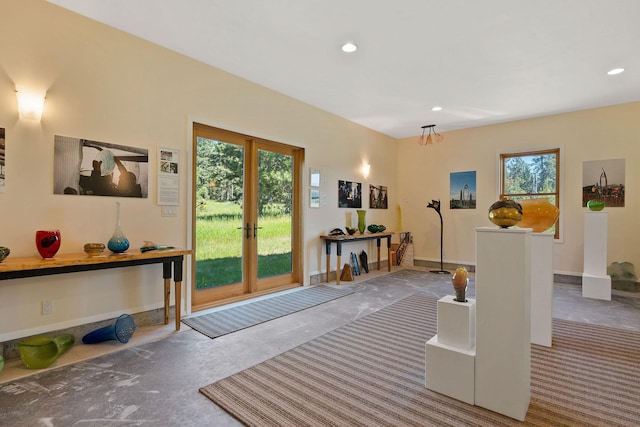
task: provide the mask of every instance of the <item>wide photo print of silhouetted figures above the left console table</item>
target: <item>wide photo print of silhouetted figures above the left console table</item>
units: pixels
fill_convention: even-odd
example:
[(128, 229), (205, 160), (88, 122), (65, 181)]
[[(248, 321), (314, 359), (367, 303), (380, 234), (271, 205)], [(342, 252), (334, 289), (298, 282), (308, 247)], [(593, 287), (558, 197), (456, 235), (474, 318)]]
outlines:
[(53, 193), (148, 197), (149, 150), (55, 135)]

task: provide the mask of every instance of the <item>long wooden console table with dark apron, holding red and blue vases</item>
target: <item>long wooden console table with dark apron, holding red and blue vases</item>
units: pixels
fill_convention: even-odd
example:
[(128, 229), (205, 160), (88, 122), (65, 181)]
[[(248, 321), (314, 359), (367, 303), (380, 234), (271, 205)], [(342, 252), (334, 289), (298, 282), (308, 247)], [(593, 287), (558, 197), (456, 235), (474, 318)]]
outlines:
[(182, 249), (162, 249), (148, 252), (129, 250), (121, 254), (105, 252), (89, 257), (85, 253), (56, 255), (54, 258), (40, 257), (11, 258), (0, 263), (0, 280), (25, 277), (47, 276), (51, 274), (75, 273), (78, 271), (104, 270), (107, 268), (131, 267), (145, 264), (162, 264), (164, 279), (164, 324), (169, 323), (169, 297), (171, 295), (171, 267), (175, 283), (176, 330), (180, 330), (180, 305), (182, 297), (182, 264), (185, 255), (192, 251)]

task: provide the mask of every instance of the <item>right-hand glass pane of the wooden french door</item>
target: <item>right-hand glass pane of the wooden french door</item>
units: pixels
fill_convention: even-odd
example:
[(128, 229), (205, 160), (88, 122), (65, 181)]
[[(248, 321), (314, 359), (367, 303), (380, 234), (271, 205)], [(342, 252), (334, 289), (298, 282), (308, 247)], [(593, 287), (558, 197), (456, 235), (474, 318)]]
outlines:
[(293, 157), (258, 151), (258, 278), (290, 273)]

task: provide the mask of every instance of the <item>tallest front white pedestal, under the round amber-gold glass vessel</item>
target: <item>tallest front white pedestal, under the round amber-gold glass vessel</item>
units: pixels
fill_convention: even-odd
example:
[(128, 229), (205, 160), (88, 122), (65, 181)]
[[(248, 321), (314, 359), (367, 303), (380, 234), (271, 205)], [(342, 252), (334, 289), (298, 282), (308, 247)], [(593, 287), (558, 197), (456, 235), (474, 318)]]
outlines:
[(523, 421), (531, 398), (531, 230), (475, 231), (475, 404)]

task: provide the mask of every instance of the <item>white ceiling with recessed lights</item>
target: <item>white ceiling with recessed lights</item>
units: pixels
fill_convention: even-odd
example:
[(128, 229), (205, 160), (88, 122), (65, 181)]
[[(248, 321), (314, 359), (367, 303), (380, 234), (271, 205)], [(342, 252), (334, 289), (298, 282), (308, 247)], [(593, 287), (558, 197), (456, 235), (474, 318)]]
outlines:
[(640, 100), (638, 0), (49, 1), (396, 138)]

